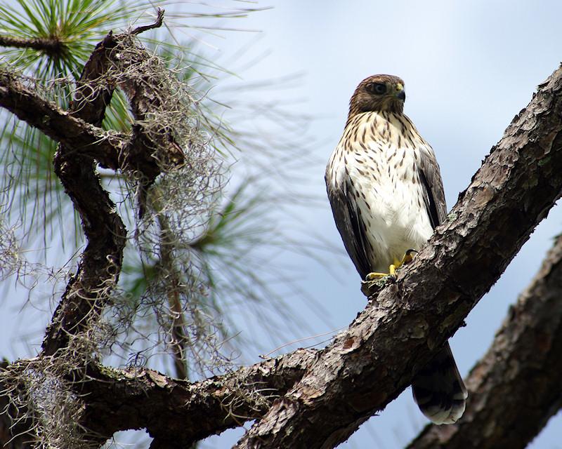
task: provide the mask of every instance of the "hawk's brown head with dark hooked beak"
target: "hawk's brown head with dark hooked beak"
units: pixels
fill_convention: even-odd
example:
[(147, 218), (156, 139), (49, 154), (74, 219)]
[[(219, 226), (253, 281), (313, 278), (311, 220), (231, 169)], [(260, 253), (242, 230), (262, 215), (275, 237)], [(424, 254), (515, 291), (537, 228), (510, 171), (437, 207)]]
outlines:
[(349, 102), (349, 116), (361, 112), (402, 112), (406, 93), (404, 81), (398, 76), (373, 75), (355, 89)]

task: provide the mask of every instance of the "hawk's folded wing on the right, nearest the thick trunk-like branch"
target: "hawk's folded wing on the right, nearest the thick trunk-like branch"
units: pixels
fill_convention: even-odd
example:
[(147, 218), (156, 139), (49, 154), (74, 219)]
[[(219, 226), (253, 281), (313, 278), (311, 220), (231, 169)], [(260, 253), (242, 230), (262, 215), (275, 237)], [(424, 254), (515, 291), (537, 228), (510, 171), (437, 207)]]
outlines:
[(420, 153), (418, 166), (419, 180), (424, 191), (424, 203), (426, 203), (429, 221), (433, 229), (438, 227), (447, 217), (447, 204), (445, 203), (445, 192), (443, 180), (439, 171), (439, 164), (433, 152)]

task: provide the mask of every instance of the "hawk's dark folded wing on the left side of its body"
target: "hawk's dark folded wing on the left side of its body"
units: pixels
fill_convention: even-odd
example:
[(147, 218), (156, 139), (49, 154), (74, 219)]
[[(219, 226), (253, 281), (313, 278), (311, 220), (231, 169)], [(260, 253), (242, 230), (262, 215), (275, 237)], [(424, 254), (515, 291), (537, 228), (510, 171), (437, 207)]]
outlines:
[(329, 203), (332, 206), (334, 221), (347, 253), (362, 279), (372, 272), (367, 257), (367, 235), (365, 225), (358, 213), (357, 202), (353, 195), (353, 186), (348, 180), (343, 185), (334, 187), (326, 182)]

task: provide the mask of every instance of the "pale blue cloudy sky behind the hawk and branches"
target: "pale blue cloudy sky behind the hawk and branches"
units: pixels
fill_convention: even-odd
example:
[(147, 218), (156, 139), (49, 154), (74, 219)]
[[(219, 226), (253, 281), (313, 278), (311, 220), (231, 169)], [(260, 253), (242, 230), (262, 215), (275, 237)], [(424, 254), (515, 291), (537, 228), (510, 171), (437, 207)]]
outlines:
[[(213, 5), (240, 4), (216, 0)], [(273, 8), (248, 18), (218, 22), (254, 31), (191, 32), (187, 37), (200, 39), (210, 60), (234, 60), (238, 66), (233, 69), (240, 79), (225, 80), (223, 86), (219, 83), (217, 93), (237, 82), (300, 75), (291, 88), (254, 95), (256, 100), (268, 95), (266, 100), (279, 102), (294, 114), (313, 117), (306, 136), (315, 146), (310, 161), (303, 164), (301, 186), (322, 201), (315, 208), (287, 208), (284, 213), (289, 221), (315, 229), (340, 248), (323, 177), (325, 163), (346, 121), (348, 100), (362, 79), (379, 73), (404, 79), (405, 114), (435, 150), (447, 206), (452, 208), (511, 119), (562, 58), (562, 3), (558, 1), (279, 0), (259, 1), (257, 5)], [(195, 6), (186, 4), (185, 8)], [(246, 50), (239, 60), (240, 48)], [(273, 131), (270, 138), (276, 138)], [(462, 375), (488, 349), (509, 304), (537, 272), (561, 229), (562, 212), (555, 207), (502, 279), (471, 312), (466, 327), (452, 337)], [(358, 274), (346, 257), (326, 255), (324, 264), (294, 254), (281, 255), (280, 259), (299, 272), (301, 288), (322, 303), (329, 323), (303, 307), (306, 298), (294, 297), (294, 310), (303, 311), (311, 330), (288, 332), (287, 341), (345, 327), (365, 307)], [(8, 318), (8, 312), (1, 321), (4, 335), (20, 323)], [(239, 323), (243, 334), (252, 332), (251, 323), (242, 319)], [(2, 342), (8, 340), (3, 338)], [(11, 345), (0, 347), (0, 354), (14, 352)], [(254, 358), (257, 360), (257, 354)], [(425, 424), (407, 389), (340, 447), (400, 448)], [(530, 448), (562, 448), (561, 434), (562, 415), (558, 414)], [(228, 448), (239, 436), (240, 430), (228, 431), (209, 438), (204, 447)]]

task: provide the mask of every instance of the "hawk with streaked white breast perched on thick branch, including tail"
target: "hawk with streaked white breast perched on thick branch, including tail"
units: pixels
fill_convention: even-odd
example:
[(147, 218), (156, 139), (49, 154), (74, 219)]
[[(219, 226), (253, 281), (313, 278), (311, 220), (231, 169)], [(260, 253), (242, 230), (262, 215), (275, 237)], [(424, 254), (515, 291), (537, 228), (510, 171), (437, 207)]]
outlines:
[[(403, 114), (405, 99), (397, 76), (361, 81), (326, 168), (336, 227), (362, 279), (393, 274), (447, 213), (435, 154)], [(466, 387), (448, 342), (414, 378), (412, 392), (436, 424), (462, 416)]]

